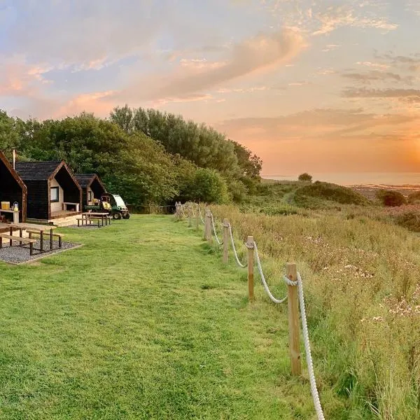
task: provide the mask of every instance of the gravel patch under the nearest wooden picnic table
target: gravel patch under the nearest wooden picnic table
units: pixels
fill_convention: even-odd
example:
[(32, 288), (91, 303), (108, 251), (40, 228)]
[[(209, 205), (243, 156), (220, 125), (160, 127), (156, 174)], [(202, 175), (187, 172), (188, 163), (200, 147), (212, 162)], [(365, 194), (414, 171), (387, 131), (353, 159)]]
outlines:
[[(0, 249), (0, 261), (10, 262), (10, 264), (22, 264), (22, 262), (29, 262), (33, 260), (38, 260), (39, 258), (48, 257), (49, 255), (54, 255), (55, 253), (60, 253), (62, 251), (67, 251), (71, 248), (78, 248), (81, 244), (71, 244), (70, 242), (62, 242), (62, 247), (58, 248), (58, 241), (52, 241), (52, 251), (50, 249), (50, 239), (43, 240), (44, 251), (37, 251), (34, 249), (34, 255), (29, 255), (29, 244), (24, 246), (15, 246), (17, 242), (13, 241), (13, 246), (9, 246), (8, 241), (5, 244), (6, 240), (3, 239), (3, 248)], [(38, 239), (34, 243), (34, 248), (40, 248), (41, 241)]]

